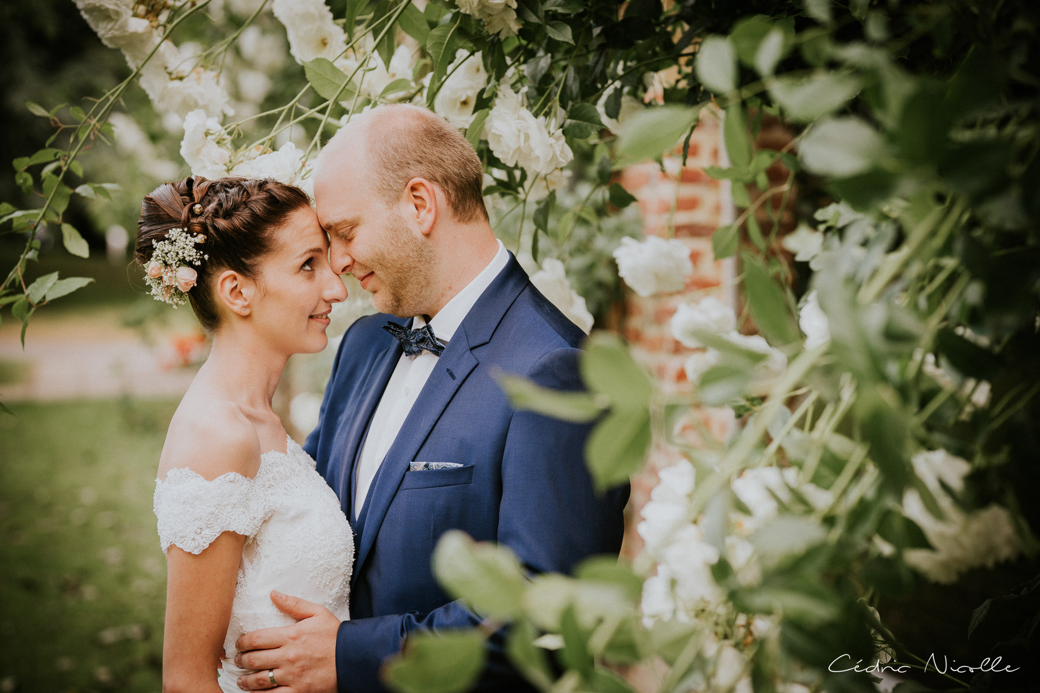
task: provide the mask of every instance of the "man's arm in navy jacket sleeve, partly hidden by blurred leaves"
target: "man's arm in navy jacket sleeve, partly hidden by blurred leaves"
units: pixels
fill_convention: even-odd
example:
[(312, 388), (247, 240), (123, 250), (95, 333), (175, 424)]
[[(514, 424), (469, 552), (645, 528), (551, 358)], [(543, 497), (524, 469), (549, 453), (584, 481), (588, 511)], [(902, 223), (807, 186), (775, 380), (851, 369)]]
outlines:
[[(579, 390), (579, 353), (572, 348), (551, 351), (526, 377), (547, 388)], [(595, 492), (583, 452), (590, 428), (532, 411), (516, 411), (511, 421), (502, 455), (497, 538), (532, 571), (570, 572), (582, 558), (617, 554), (621, 548), (628, 487)], [(479, 621), (459, 602), (424, 615), (344, 621), (336, 642), (340, 693), (385, 690), (380, 667), (400, 651), (410, 633), (472, 628)], [(489, 666), (476, 690), (530, 690), (509, 667), (502, 636), (499, 632), (489, 640)]]

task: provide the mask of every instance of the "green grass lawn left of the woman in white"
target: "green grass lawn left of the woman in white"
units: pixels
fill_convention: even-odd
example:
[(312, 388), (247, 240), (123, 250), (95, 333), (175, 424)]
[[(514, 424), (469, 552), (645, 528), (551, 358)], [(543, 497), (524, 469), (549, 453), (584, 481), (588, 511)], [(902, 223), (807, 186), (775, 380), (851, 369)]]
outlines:
[[(0, 690), (161, 688), (152, 492), (173, 401), (0, 415)], [(11, 686), (15, 688), (11, 688)]]

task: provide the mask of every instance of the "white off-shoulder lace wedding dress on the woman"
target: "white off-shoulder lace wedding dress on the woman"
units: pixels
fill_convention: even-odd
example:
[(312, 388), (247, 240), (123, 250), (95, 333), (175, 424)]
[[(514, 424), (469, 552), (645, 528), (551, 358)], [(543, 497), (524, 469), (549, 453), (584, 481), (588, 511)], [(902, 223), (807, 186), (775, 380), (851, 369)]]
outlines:
[(340, 620), (349, 618), (354, 533), (311, 456), (292, 438), (287, 445), (287, 452), (261, 455), (252, 479), (232, 472), (207, 481), (176, 469), (155, 482), (163, 552), (175, 544), (199, 554), (222, 532), (248, 537), (224, 641), (228, 659), (218, 677), (229, 693), (240, 691), (235, 682), (249, 673), (232, 661), (239, 636), (294, 622), (271, 603), (271, 590), (320, 604)]

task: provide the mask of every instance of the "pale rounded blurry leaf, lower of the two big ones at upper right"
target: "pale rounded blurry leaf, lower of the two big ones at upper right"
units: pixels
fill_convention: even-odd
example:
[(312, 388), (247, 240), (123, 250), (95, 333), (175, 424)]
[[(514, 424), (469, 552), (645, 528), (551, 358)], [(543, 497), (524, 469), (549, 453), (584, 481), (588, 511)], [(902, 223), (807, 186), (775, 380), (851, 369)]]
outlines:
[(881, 135), (856, 116), (818, 121), (802, 140), (799, 155), (806, 168), (823, 176), (850, 178), (877, 161)]

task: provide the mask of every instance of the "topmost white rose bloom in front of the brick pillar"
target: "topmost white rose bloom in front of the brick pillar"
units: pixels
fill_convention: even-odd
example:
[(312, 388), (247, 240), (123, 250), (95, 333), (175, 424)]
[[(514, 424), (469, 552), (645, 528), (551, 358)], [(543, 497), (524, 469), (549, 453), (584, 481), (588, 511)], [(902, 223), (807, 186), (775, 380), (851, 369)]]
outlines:
[(690, 248), (679, 240), (647, 236), (643, 241), (622, 238), (614, 251), (618, 273), (644, 298), (681, 291), (694, 271)]

